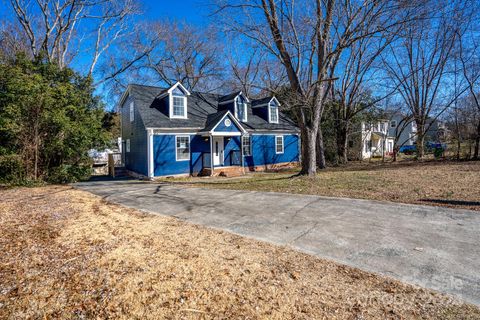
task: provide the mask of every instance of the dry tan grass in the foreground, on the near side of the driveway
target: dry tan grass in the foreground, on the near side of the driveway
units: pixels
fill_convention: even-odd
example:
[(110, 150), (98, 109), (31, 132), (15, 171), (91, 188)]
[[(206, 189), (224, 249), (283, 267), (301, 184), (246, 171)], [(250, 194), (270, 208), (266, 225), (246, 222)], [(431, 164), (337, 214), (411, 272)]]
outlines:
[(429, 290), (68, 187), (0, 199), (2, 319), (480, 318)]

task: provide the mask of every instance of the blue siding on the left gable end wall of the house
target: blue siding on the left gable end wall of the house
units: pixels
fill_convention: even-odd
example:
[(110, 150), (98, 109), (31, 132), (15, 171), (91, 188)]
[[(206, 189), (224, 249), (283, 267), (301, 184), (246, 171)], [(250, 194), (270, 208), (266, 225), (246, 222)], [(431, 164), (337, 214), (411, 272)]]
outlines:
[[(147, 131), (135, 105), (134, 121), (130, 122), (131, 101), (132, 99), (128, 97), (122, 105), (122, 149), (125, 152), (125, 168), (147, 175)], [(127, 139), (130, 139), (130, 152), (126, 152), (125, 148)]]

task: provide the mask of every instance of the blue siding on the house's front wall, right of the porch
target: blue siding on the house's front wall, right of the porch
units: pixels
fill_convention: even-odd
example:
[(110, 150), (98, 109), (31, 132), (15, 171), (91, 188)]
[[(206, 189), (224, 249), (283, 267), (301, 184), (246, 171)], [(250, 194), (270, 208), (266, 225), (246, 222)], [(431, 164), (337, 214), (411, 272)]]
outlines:
[(283, 135), (284, 151), (275, 153), (275, 135), (252, 135), (252, 155), (245, 157), (246, 167), (299, 161), (297, 135)]

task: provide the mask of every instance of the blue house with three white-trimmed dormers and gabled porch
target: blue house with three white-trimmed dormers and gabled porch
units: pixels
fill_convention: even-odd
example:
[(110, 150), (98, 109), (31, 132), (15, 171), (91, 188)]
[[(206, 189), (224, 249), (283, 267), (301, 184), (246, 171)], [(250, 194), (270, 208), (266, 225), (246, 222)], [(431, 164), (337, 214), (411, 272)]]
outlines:
[(275, 97), (131, 84), (119, 106), (125, 167), (142, 176), (242, 174), (299, 161), (299, 130)]

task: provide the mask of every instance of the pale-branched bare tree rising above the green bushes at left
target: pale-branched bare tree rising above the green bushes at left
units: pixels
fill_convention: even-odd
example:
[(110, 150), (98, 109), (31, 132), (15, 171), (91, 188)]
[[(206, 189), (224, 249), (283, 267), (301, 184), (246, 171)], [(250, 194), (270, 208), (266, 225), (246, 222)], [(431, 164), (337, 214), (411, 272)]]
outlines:
[[(128, 18), (138, 12), (133, 0), (10, 0), (10, 5), (34, 57), (65, 67), (82, 42), (89, 44), (88, 75), (99, 57), (126, 33)], [(86, 26), (81, 28), (82, 24)]]

